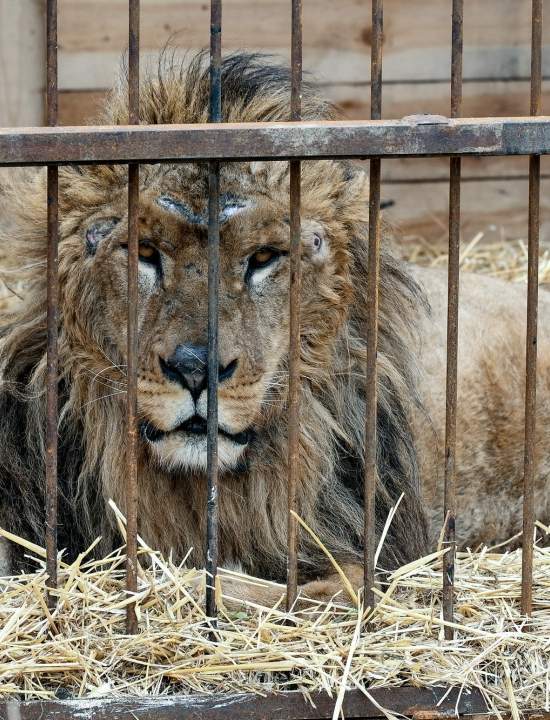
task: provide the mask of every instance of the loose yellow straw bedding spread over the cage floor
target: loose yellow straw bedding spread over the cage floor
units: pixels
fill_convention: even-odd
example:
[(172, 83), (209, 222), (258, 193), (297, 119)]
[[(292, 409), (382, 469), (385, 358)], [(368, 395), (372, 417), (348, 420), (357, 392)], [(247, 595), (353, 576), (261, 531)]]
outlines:
[[(446, 261), (441, 247), (419, 239), (403, 252), (422, 264)], [(543, 247), (542, 282), (550, 281), (549, 253)], [(525, 243), (487, 245), (476, 236), (464, 246), (462, 265), (522, 281)], [(539, 530), (549, 532), (540, 525)], [(325, 690), (340, 701), (345, 688), (368, 693), (412, 684), (477, 687), (490, 708), (514, 718), (520, 710), (550, 710), (550, 548), (535, 550), (534, 613), (528, 623), (519, 607), (521, 551), (459, 554), (456, 639), (449, 642), (443, 640), (442, 550), (380, 585), (373, 613), (335, 597), (328, 606), (305, 603), (292, 622), (282, 609), (282, 587), (278, 607), (237, 610), (223, 596), (228, 571), (221, 572), (213, 639), (203, 612), (204, 573), (174, 565), (143, 541), (135, 637), (124, 633), (130, 599), (124, 548), (100, 561), (84, 554), (72, 565), (61, 563), (58, 606), (48, 610), (45, 553), (26, 547), (36, 571), (0, 578), (0, 698), (298, 689)]]

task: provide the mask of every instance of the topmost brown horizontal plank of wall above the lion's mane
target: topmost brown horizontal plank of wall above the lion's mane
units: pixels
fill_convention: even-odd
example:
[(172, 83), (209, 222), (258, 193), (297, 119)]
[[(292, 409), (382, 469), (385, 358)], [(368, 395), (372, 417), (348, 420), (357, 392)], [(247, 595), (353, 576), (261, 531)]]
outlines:
[[(370, 12), (364, 0), (304, 0), (307, 47), (359, 50), (370, 46)], [(452, 0), (386, 0), (386, 52), (395, 48), (447, 47)], [(470, 46), (517, 47), (531, 36), (530, 0), (469, 3), (464, 30)], [(118, 52), (127, 42), (127, 0), (59, 0), (60, 33), (67, 51)], [(142, 46), (158, 48), (177, 36), (184, 48), (203, 47), (208, 37), (206, 0), (148, 0), (142, 7)], [(287, 0), (225, 0), (224, 46), (286, 47), (290, 38)], [(404, 42), (406, 40), (406, 42)], [(513, 68), (516, 70), (517, 68)]]

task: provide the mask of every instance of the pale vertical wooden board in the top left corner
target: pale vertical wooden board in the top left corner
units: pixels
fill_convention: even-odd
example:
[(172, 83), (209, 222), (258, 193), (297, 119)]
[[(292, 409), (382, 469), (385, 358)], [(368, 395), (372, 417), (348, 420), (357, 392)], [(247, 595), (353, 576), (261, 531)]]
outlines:
[(0, 127), (44, 122), (42, 0), (0, 0)]

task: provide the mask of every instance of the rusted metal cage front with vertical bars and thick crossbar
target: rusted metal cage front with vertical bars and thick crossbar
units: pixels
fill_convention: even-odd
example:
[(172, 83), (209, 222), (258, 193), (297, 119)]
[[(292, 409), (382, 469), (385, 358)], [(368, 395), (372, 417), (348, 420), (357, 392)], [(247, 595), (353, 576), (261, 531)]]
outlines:
[[(292, 9), (292, 82), (289, 123), (255, 123), (221, 125), (221, 0), (211, 1), (210, 25), (210, 112), (209, 124), (193, 126), (139, 125), (139, 0), (129, 0), (129, 126), (56, 128), (57, 125), (57, 0), (47, 0), (47, 119), (48, 129), (0, 130), (0, 166), (47, 165), (48, 183), (48, 262), (47, 262), (47, 447), (46, 447), (46, 546), (49, 575), (49, 602), (55, 603), (53, 592), (57, 581), (57, 323), (58, 323), (58, 166), (68, 163), (128, 163), (128, 435), (127, 435), (127, 587), (137, 591), (137, 303), (138, 303), (138, 217), (139, 163), (185, 162), (209, 160), (209, 227), (208, 227), (208, 530), (207, 530), (207, 613), (215, 619), (215, 578), (217, 571), (217, 315), (219, 277), (219, 179), (220, 161), (240, 159), (290, 160), (290, 359), (289, 359), (289, 524), (288, 524), (288, 587), (287, 605), (292, 606), (297, 594), (298, 531), (293, 516), (299, 477), (299, 397), (300, 397), (300, 161), (334, 157), (371, 158), (369, 201), (369, 263), (367, 286), (369, 312), (366, 327), (367, 365), (365, 419), (365, 586), (364, 602), (374, 605), (374, 543), (376, 489), (376, 348), (378, 262), (380, 246), (380, 162), (384, 157), (450, 156), (449, 194), (449, 281), (447, 320), (447, 413), (445, 427), (445, 517), (444, 542), (449, 551), (444, 558), (443, 613), (453, 619), (455, 543), (455, 450), (457, 404), (458, 350), (458, 288), (460, 241), (461, 156), (511, 155), (530, 156), (529, 164), (529, 260), (528, 308), (526, 333), (526, 399), (524, 457), (524, 543), (522, 565), (522, 609), (532, 610), (532, 563), (534, 546), (534, 447), (536, 410), (536, 345), (538, 238), (540, 197), (540, 155), (550, 153), (550, 118), (540, 117), (542, 89), (542, 0), (532, 0), (531, 116), (528, 118), (458, 120), (462, 100), (463, 0), (453, 0), (451, 118), (411, 117), (403, 121), (382, 121), (382, 37), (383, 0), (372, 0), (373, 43), (371, 56), (371, 121), (302, 123), (302, 3), (291, 0)], [(254, 150), (252, 151), (251, 148)], [(127, 630), (136, 632), (137, 616), (133, 603), (127, 606)], [(450, 626), (446, 637), (452, 637)], [(412, 688), (397, 692), (400, 702), (408, 702), (407, 693), (423, 698), (426, 693)], [(395, 693), (395, 691), (394, 691)], [(429, 693), (428, 693), (429, 694)], [(449, 696), (450, 697), (450, 696)], [(357, 701), (357, 693), (349, 696)], [(479, 698), (478, 698), (479, 699)], [(319, 700), (322, 704), (322, 701)], [(458, 702), (458, 701), (457, 701)], [(293, 701), (295, 703), (295, 701)], [(183, 705), (193, 701), (182, 700)], [(284, 703), (280, 703), (284, 705)], [(436, 702), (431, 706), (435, 706)], [(35, 703), (23, 704), (31, 717)], [(277, 704), (270, 704), (271, 715), (277, 716)], [(298, 703), (299, 705), (299, 703)], [(429, 705), (429, 703), (428, 703)], [(8, 707), (6, 705), (5, 707)], [(52, 704), (53, 708), (53, 704)], [(158, 716), (159, 703), (155, 703)], [(402, 705), (402, 712), (404, 711)], [(417, 710), (419, 706), (416, 706)], [(34, 710), (33, 710), (34, 709)], [(189, 709), (189, 708), (188, 708)], [(372, 709), (372, 708), (371, 708)], [(479, 712), (476, 700), (463, 703), (463, 712)], [(322, 713), (287, 708), (284, 717), (322, 717)], [(217, 712), (217, 711), (216, 711)], [(260, 712), (253, 705), (250, 717)], [(439, 709), (441, 712), (441, 708)], [(373, 717), (363, 702), (359, 715), (353, 708), (349, 717)], [(203, 714), (203, 713), (201, 713)], [(437, 715), (438, 713), (436, 713)], [(116, 711), (107, 716), (116, 717)], [(171, 717), (165, 713), (162, 717)], [(221, 716), (219, 713), (216, 717)], [(242, 716), (242, 711), (241, 711)]]

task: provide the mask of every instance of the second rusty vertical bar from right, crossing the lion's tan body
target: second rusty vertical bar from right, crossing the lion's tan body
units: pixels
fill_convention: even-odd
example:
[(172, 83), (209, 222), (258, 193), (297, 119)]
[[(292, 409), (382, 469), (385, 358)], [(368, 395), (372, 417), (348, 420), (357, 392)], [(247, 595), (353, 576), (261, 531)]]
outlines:
[[(453, 0), (451, 117), (459, 117), (462, 109), (464, 0)], [(448, 552), (443, 556), (443, 618), (454, 617), (454, 576), (456, 556), (456, 407), (458, 370), (458, 297), (460, 263), (460, 178), (461, 160), (451, 158), (449, 181), (449, 270), (447, 300), (447, 379), (445, 417), (445, 491), (443, 543)], [(453, 628), (445, 627), (445, 637), (453, 638)]]

